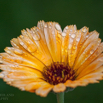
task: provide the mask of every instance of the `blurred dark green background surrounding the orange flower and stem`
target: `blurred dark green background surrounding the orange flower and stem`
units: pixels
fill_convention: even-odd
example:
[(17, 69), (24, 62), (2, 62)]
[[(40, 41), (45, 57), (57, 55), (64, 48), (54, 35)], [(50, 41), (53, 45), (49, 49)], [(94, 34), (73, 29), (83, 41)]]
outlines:
[[(39, 20), (59, 22), (62, 29), (70, 24), (78, 29), (87, 26), (103, 39), (103, 0), (0, 0), (0, 52), (11, 46), (10, 40), (19, 36), (20, 30), (36, 26)], [(103, 103), (102, 87), (103, 81), (77, 87), (65, 93), (65, 103)], [(56, 95), (49, 93), (43, 98), (0, 80), (0, 103), (56, 103)]]

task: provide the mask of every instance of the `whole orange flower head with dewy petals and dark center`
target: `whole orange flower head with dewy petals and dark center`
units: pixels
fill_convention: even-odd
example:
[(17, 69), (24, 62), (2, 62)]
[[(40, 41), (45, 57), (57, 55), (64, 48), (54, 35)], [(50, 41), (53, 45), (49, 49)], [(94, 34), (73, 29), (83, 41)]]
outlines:
[(56, 22), (40, 21), (11, 40), (0, 53), (0, 77), (21, 90), (47, 96), (67, 87), (98, 83), (103, 76), (103, 43), (96, 31), (75, 25), (64, 30)]

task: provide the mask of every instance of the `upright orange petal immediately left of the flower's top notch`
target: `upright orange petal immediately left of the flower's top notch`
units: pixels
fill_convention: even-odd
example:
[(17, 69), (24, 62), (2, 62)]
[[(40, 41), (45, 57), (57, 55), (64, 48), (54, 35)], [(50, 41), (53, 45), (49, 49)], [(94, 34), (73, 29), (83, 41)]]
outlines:
[(61, 61), (61, 27), (58, 23), (44, 24), (44, 34), (48, 49), (54, 62)]

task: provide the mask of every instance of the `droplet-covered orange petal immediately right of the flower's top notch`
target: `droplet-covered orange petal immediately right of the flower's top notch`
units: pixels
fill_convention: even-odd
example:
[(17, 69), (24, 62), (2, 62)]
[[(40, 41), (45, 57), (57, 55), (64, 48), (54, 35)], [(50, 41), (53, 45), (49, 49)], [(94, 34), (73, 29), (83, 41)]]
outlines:
[(62, 32), (62, 62), (68, 63), (68, 49), (72, 47), (72, 43), (76, 33), (76, 25), (66, 26)]

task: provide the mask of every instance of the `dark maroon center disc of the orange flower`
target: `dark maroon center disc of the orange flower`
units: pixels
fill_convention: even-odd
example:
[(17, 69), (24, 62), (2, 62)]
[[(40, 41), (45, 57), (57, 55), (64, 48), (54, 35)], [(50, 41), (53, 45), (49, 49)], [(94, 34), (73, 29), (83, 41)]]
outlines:
[(44, 68), (43, 76), (47, 82), (53, 85), (65, 83), (67, 80), (75, 80), (74, 70), (63, 63), (53, 63)]

